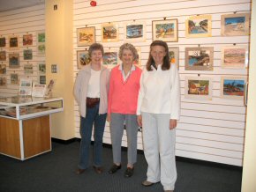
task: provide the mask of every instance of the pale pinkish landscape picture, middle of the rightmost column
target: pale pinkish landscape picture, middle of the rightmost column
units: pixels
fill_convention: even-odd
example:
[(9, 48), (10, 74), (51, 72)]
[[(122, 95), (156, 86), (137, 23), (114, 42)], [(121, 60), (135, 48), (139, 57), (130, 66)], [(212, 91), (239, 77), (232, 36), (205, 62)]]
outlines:
[(222, 48), (222, 68), (245, 69), (247, 66), (247, 47), (233, 46)]

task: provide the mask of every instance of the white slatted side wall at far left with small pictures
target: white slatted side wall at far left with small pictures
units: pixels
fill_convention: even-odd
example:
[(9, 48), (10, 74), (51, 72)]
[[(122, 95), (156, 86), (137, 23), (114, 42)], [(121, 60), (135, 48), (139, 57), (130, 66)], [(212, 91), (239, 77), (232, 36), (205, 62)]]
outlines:
[[(6, 42), (4, 47), (0, 46), (0, 52), (6, 55), (0, 61), (0, 97), (17, 95), (20, 78), (32, 78), (35, 82), (45, 83), (45, 42), (38, 38), (44, 30), (44, 4), (0, 12), (0, 40), (5, 39)], [(23, 42), (26, 35), (29, 40)], [(10, 46), (12, 37), (18, 38), (17, 48)], [(28, 55), (24, 55), (24, 51), (28, 51)], [(19, 63), (10, 62), (13, 54), (17, 55)]]

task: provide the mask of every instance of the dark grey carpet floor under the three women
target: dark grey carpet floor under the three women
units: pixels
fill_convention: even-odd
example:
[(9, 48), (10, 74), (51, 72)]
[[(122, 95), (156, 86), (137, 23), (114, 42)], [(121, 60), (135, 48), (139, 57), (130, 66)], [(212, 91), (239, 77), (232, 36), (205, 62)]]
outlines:
[[(108, 174), (112, 165), (110, 148), (104, 148), (104, 173), (95, 174), (93, 167), (81, 175), (75, 174), (79, 157), (79, 142), (53, 143), (51, 152), (33, 159), (19, 161), (0, 155), (0, 191), (83, 191), (142, 192), (163, 191), (160, 183), (143, 187), (147, 162), (139, 153), (132, 178), (124, 178), (126, 151), (122, 152), (123, 167)], [(206, 164), (202, 161), (177, 159), (176, 192), (239, 192), (242, 169), (234, 166)]]

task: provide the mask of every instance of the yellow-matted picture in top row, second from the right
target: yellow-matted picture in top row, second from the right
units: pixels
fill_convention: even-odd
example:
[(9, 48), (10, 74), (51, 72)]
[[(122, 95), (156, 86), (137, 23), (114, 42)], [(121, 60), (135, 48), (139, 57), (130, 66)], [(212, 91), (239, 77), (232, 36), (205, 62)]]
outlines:
[(185, 37), (211, 37), (212, 16), (191, 16), (185, 21)]

